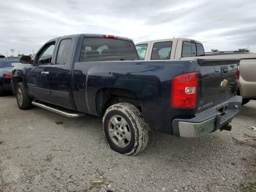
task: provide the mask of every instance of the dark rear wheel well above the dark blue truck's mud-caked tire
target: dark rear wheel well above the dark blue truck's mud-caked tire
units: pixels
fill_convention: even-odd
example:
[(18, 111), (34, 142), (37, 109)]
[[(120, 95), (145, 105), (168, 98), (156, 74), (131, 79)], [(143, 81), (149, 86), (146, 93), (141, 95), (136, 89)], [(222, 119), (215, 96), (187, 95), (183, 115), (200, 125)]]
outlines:
[(96, 93), (96, 110), (99, 116), (102, 116), (108, 107), (120, 102), (130, 103), (141, 111), (140, 98), (131, 90), (102, 88)]

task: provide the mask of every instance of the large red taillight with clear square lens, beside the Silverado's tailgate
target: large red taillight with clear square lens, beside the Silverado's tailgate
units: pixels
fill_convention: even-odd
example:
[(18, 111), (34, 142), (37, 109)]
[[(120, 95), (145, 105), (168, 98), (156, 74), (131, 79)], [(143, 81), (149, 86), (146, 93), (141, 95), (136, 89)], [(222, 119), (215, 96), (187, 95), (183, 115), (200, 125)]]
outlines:
[(198, 72), (177, 75), (172, 80), (171, 106), (195, 108), (198, 90)]

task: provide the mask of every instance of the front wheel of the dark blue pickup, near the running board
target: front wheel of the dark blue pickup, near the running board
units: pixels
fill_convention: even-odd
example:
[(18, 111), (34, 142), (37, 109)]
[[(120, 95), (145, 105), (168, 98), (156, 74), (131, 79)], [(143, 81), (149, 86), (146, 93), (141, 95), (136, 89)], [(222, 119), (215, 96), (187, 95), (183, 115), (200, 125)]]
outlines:
[(31, 104), (32, 99), (28, 97), (23, 82), (19, 82), (16, 85), (15, 94), (17, 104), (20, 109), (27, 110), (33, 107), (33, 105)]

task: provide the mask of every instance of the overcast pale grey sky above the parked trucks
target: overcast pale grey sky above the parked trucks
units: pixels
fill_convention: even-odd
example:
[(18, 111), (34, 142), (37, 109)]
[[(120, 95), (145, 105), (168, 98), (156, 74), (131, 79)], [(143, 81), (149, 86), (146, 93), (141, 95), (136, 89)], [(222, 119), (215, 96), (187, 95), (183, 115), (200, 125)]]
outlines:
[(49, 39), (77, 33), (144, 40), (186, 37), (205, 51), (256, 52), (256, 0), (1, 1), (0, 53), (32, 54)]

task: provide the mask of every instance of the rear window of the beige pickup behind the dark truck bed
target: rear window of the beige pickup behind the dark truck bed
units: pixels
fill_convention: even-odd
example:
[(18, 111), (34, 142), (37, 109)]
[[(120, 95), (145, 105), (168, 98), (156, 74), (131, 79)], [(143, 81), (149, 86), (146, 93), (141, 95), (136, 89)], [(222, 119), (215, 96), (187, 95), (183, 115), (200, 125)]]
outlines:
[(204, 56), (204, 48), (201, 44), (192, 42), (183, 42), (181, 57)]

